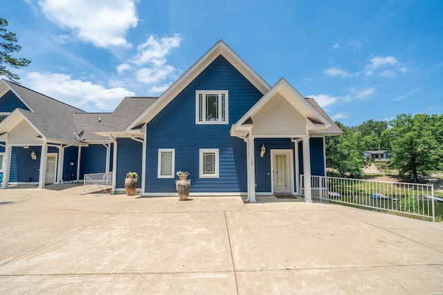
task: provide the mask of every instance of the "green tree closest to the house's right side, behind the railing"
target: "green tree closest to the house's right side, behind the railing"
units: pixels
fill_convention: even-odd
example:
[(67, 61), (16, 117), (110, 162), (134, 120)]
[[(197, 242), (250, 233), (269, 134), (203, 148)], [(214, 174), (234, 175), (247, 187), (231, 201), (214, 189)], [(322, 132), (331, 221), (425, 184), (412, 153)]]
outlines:
[(340, 122), (336, 124), (343, 131), (343, 135), (326, 137), (326, 166), (337, 171), (341, 177), (361, 177), (363, 167), (370, 162), (363, 158), (361, 133)]

